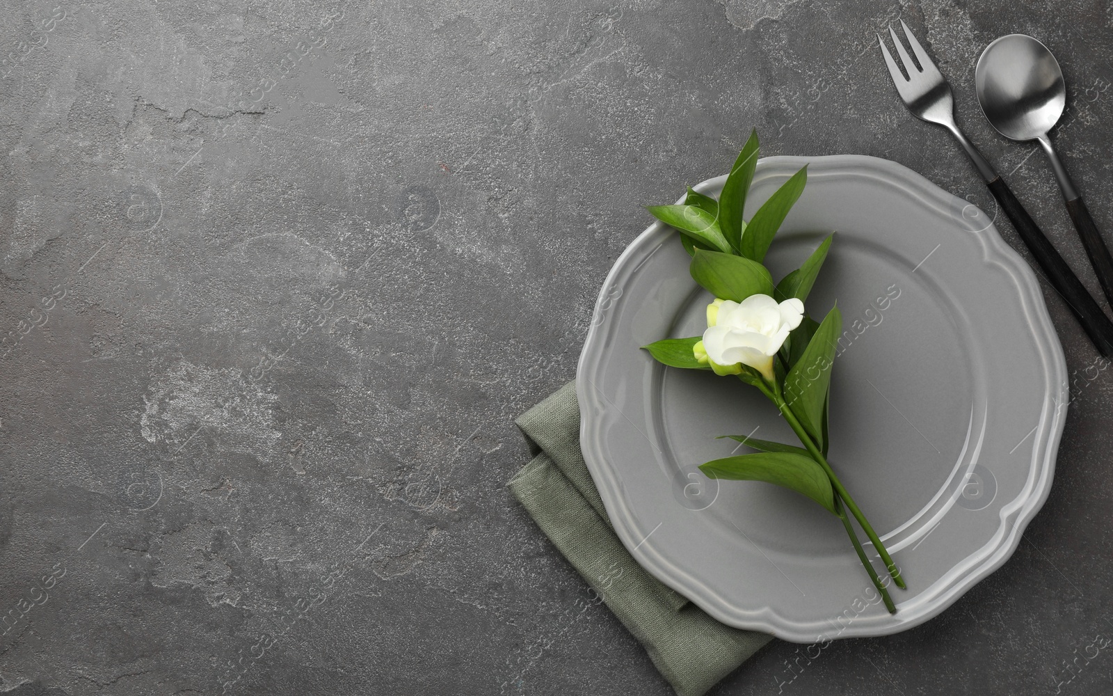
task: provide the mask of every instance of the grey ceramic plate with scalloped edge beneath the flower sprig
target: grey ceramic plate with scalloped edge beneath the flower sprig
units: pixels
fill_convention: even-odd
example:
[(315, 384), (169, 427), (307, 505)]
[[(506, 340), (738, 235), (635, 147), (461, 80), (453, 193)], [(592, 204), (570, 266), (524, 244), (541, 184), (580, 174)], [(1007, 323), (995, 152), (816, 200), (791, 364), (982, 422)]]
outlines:
[(779, 278), (837, 232), (807, 307), (843, 312), (830, 461), (908, 582), (895, 616), (835, 517), (696, 469), (738, 447), (715, 435), (796, 441), (752, 388), (639, 351), (705, 329), (710, 295), (676, 232), (651, 226), (615, 263), (577, 379), (583, 454), (634, 558), (720, 621), (798, 643), (910, 628), (1004, 563), (1047, 496), (1067, 403), (1035, 275), (984, 213), (900, 165), (836, 156), (761, 160), (747, 214), (805, 164), (766, 263)]

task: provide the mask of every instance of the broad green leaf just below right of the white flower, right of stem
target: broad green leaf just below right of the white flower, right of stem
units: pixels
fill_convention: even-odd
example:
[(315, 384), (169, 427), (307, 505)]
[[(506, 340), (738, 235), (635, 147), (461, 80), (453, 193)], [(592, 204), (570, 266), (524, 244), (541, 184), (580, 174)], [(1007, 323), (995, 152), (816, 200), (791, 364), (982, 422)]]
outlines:
[(835, 349), (843, 331), (843, 315), (831, 307), (816, 329), (808, 347), (785, 376), (785, 401), (820, 449), (824, 445), (823, 411), (830, 386)]

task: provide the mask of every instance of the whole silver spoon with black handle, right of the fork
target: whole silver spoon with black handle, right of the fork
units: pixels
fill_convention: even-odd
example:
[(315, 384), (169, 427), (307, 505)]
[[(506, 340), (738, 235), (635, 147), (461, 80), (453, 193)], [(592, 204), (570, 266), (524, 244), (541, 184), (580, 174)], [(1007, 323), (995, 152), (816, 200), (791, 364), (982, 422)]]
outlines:
[(974, 85), (982, 111), (1001, 135), (1013, 140), (1038, 140), (1047, 154), (1090, 264), (1113, 304), (1113, 257), (1047, 137), (1066, 105), (1066, 84), (1058, 61), (1040, 41), (1011, 33), (982, 51)]

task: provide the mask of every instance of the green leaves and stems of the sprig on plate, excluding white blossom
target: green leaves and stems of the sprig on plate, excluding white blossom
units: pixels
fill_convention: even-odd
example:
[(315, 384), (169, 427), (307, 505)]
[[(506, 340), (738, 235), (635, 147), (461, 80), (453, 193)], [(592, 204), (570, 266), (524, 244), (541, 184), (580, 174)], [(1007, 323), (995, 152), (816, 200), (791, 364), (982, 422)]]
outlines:
[[(751, 131), (718, 199), (689, 188), (683, 204), (649, 206), (648, 210), (680, 233), (680, 242), (692, 258), (689, 266), (692, 280), (715, 297), (741, 303), (752, 295), (770, 295), (777, 302), (790, 298), (805, 302), (827, 258), (834, 235), (828, 235), (799, 268), (774, 283), (762, 262), (785, 217), (804, 193), (808, 171), (805, 166), (790, 176), (747, 222), (743, 214), (758, 151), (757, 131)], [(758, 451), (709, 461), (700, 465), (700, 470), (709, 478), (766, 481), (795, 490), (838, 517), (885, 606), (896, 612), (887, 582), (880, 579), (866, 557), (850, 523), (851, 517), (877, 549), (887, 575), (898, 587), (905, 588), (900, 571), (827, 461), (830, 374), (841, 324), (838, 306), (833, 306), (820, 322), (805, 313), (778, 350), (774, 370), (768, 370), (766, 364), (762, 372), (739, 363), (729, 372), (772, 401), (804, 447), (743, 435), (720, 435)], [(710, 370), (712, 365), (707, 354), (701, 355), (702, 340), (703, 336), (666, 339), (643, 347), (666, 365)], [(720, 367), (716, 366), (716, 372), (728, 373)]]

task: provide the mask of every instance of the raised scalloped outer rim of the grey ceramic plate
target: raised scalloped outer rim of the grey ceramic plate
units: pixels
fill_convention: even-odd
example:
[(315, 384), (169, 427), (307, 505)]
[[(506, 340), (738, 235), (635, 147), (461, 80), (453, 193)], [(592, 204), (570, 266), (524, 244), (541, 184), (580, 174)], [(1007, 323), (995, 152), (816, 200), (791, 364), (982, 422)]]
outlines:
[[(847, 174), (883, 174), (886, 176), (886, 180), (894, 187), (902, 189), (909, 197), (919, 198), (933, 208), (943, 207), (946, 209), (947, 206), (954, 206), (958, 202), (962, 205), (962, 209), (965, 210), (967, 206), (973, 205), (968, 200), (951, 194), (923, 175), (899, 163), (867, 155), (764, 157), (758, 160), (757, 171), (760, 174), (764, 169), (769, 168), (795, 169), (805, 164), (817, 171), (843, 168)], [(721, 184), (725, 179), (726, 175), (711, 177), (696, 185), (693, 188), (705, 190)], [(682, 202), (682, 198), (680, 202)], [(615, 281), (623, 274), (632, 272), (628, 266), (632, 261), (636, 261), (636, 257), (638, 257), (639, 265), (641, 261), (644, 261), (639, 256), (641, 247), (663, 229), (664, 225), (662, 223), (654, 222), (639, 234), (623, 249), (600, 287), (592, 313), (592, 321), (577, 366), (577, 396), (581, 404), (580, 432), (584, 461), (599, 489), (600, 497), (603, 500), (603, 504), (619, 539), (631, 556), (650, 575), (672, 587), (710, 616), (728, 626), (760, 630), (795, 643), (812, 643), (818, 639), (814, 630), (806, 629), (779, 616), (774, 607), (767, 607), (768, 611), (761, 612), (768, 616), (768, 619), (752, 615), (743, 616), (743, 612), (752, 612), (752, 610), (733, 607), (727, 598), (719, 596), (718, 592), (710, 590), (710, 588), (702, 584), (686, 582), (684, 574), (676, 572), (677, 569), (674, 566), (664, 560), (664, 556), (653, 548), (653, 543), (648, 538), (638, 539), (633, 537), (633, 529), (631, 527), (632, 512), (624, 504), (622, 497), (618, 494), (618, 487), (608, 484), (609, 481), (605, 480), (608, 472), (605, 464), (601, 464), (603, 457), (601, 439), (597, 427), (600, 419), (593, 416), (591, 411), (591, 405), (595, 404), (598, 400), (585, 384), (585, 380), (590, 381), (587, 375), (591, 372), (594, 344), (601, 339), (605, 313), (614, 298), (612, 291), (615, 287)], [(961, 559), (948, 572), (954, 572), (962, 566), (967, 566), (966, 570), (961, 577), (953, 578), (946, 585), (945, 589), (927, 602), (927, 607), (910, 617), (902, 617), (902, 619), (888, 621), (879, 626), (853, 623), (846, 626), (836, 636), (837, 638), (869, 637), (899, 633), (923, 624), (940, 614), (977, 582), (1001, 568), (1012, 557), (1020, 545), (1025, 528), (1043, 507), (1051, 492), (1055, 460), (1068, 409), (1068, 399), (1066, 399), (1067, 394), (1065, 393), (1068, 391), (1066, 380), (1067, 370), (1062, 343), (1047, 312), (1038, 280), (1027, 262), (1024, 261), (1016, 249), (1005, 242), (993, 222), (975, 234), (977, 234), (983, 248), (983, 261), (1004, 265), (1015, 278), (1016, 295), (1014, 296), (1022, 303), (1023, 313), (1028, 320), (1031, 333), (1036, 341), (1045, 366), (1044, 376), (1047, 380), (1048, 386), (1041, 411), (1040, 424), (1037, 425), (1037, 431), (1042, 430), (1042, 432), (1036, 433), (1037, 439), (1044, 439), (1044, 445), (1038, 454), (1036, 452), (1033, 453), (1033, 460), (1036, 461), (1030, 465), (1028, 480), (1022, 490), (1022, 496), (1026, 490), (1027, 497), (1018, 497), (1008, 506), (1002, 508), (997, 517), (998, 526), (991, 541), (986, 543), (986, 547), (996, 545), (989, 550), (983, 547), (983, 549)], [(601, 355), (602, 353), (599, 354)], [(598, 362), (598, 356), (595, 362)], [(1056, 385), (1058, 390), (1057, 395), (1053, 393)], [(1053, 413), (1048, 413), (1052, 401), (1057, 405)], [(1034, 481), (1033, 478), (1035, 479)], [(603, 484), (601, 486), (600, 483)], [(1009, 522), (1009, 519), (1013, 521)], [(972, 565), (969, 561), (973, 558), (977, 560)]]

